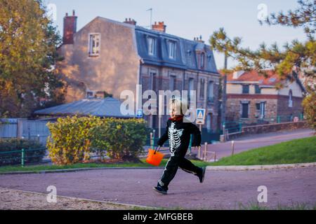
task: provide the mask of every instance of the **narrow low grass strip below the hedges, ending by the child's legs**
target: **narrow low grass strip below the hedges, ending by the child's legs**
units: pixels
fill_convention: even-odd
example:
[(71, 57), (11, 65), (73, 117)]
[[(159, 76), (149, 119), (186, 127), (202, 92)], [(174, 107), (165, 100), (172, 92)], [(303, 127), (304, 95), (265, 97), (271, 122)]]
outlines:
[[(98, 168), (98, 167), (153, 167), (152, 165), (147, 164), (145, 162), (145, 159), (141, 160), (142, 163), (117, 163), (117, 164), (97, 164), (97, 163), (77, 163), (74, 165), (34, 165), (34, 166), (8, 166), (8, 167), (0, 167), (0, 173), (1, 172), (21, 172), (21, 171), (43, 171), (43, 170), (54, 170), (54, 169), (79, 169), (79, 168)], [(162, 160), (161, 167), (164, 167), (166, 165), (166, 162), (168, 160), (164, 159)], [(191, 160), (195, 165), (199, 167), (206, 167), (209, 166), (210, 162), (203, 162), (199, 160)]]

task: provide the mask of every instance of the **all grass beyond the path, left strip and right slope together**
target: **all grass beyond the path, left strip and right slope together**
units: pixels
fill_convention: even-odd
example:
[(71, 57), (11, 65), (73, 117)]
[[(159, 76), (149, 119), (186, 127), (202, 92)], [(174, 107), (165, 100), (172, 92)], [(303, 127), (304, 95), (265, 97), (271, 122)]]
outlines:
[[(53, 169), (78, 169), (78, 168), (98, 168), (98, 167), (153, 167), (141, 160), (142, 163), (118, 163), (118, 164), (97, 164), (85, 163), (75, 165), (34, 165), (34, 166), (11, 166), (0, 167), (1, 172), (20, 172), (20, 171), (44, 171)], [(162, 160), (161, 167), (166, 165), (168, 160)], [(251, 151), (246, 151), (233, 155), (227, 158), (222, 158), (218, 162), (203, 162), (199, 160), (191, 160), (198, 167), (206, 166), (230, 166), (230, 165), (276, 165), (276, 164), (291, 164), (316, 162), (316, 137), (305, 139), (296, 139), (293, 141), (283, 142), (273, 146), (265, 146), (256, 148)]]

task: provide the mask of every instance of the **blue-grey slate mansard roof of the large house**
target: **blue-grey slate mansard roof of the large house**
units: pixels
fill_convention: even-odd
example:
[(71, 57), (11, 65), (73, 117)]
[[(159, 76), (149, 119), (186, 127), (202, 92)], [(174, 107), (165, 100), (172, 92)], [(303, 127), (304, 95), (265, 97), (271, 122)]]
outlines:
[[(147, 50), (148, 36), (156, 40), (156, 53), (154, 55), (149, 55)], [(175, 59), (169, 58), (168, 41), (176, 43)], [(136, 42), (138, 55), (143, 59), (145, 64), (218, 73), (213, 51), (209, 45), (202, 42), (190, 41), (185, 38), (138, 26), (136, 26)], [(205, 53), (206, 63), (203, 69), (200, 69), (198, 66), (197, 51)]]

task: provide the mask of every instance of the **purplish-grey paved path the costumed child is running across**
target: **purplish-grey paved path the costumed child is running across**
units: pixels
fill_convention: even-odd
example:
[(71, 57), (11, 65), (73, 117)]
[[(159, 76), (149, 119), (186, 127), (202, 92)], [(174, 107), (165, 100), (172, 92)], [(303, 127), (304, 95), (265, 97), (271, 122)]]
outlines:
[[(269, 207), (296, 202), (316, 203), (316, 167), (248, 172), (206, 171), (204, 183), (178, 171), (169, 195), (152, 190), (162, 169), (117, 169), (55, 174), (0, 175), (0, 187), (152, 207), (238, 209), (239, 202), (256, 202), (258, 186), (267, 186)], [(22, 200), (22, 198), (21, 198)], [(0, 202), (4, 203), (4, 202)]]

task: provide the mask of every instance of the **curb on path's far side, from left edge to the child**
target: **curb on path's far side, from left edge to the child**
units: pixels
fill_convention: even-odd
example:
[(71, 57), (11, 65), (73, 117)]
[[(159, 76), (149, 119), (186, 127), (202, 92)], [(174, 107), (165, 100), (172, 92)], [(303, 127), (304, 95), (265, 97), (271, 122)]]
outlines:
[(52, 173), (68, 173), (80, 172), (98, 169), (163, 169), (164, 167), (96, 167), (96, 168), (77, 168), (77, 169), (51, 169), (40, 171), (21, 171), (21, 172), (0, 172), (0, 175), (14, 175), (14, 174), (52, 174)]

